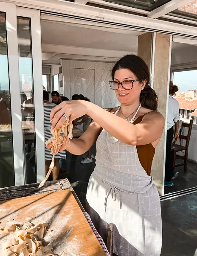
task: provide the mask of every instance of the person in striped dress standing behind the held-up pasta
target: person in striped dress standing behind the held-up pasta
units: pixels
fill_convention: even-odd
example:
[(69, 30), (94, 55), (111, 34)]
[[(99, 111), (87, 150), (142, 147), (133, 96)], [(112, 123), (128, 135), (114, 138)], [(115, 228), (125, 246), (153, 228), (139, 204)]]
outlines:
[[(51, 134), (51, 121), (50, 121), (50, 113), (51, 110), (56, 106), (56, 104), (49, 102), (48, 92), (43, 90), (43, 100), (44, 100), (44, 126), (45, 126), (45, 142), (52, 137)], [(49, 171), (49, 166), (51, 164), (53, 155), (51, 154), (51, 149), (47, 149), (45, 147), (45, 173), (47, 174)], [(55, 163), (52, 170), (53, 180), (58, 179), (59, 175), (59, 159), (65, 158), (66, 152), (58, 152), (55, 156)]]

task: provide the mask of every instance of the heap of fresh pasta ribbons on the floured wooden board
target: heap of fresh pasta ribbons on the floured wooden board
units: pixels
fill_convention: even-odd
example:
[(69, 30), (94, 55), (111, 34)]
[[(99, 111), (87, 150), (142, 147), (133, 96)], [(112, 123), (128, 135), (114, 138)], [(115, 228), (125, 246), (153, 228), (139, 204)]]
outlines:
[[(57, 256), (51, 245), (43, 246), (46, 236), (52, 232), (47, 223), (12, 220), (7, 221), (7, 226), (0, 229), (2, 235), (11, 234), (11, 238), (3, 244), (6, 256)], [(66, 254), (62, 253), (61, 256)]]

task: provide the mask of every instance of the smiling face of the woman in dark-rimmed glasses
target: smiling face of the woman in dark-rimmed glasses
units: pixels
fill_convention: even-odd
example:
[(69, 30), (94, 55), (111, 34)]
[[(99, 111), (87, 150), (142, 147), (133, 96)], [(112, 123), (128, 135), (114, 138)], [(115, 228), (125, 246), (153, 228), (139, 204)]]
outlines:
[[(129, 81), (138, 79), (134, 73), (132, 73), (128, 69), (120, 69), (115, 71), (114, 75), (114, 81), (122, 82), (122, 81)], [(130, 90), (125, 90), (121, 84), (119, 84), (118, 90), (115, 90), (116, 97), (118, 101), (123, 105), (130, 105), (133, 102), (135, 102), (140, 97), (141, 90), (144, 89), (144, 86), (146, 84), (146, 80), (143, 82), (136, 81), (133, 82), (133, 87)]]

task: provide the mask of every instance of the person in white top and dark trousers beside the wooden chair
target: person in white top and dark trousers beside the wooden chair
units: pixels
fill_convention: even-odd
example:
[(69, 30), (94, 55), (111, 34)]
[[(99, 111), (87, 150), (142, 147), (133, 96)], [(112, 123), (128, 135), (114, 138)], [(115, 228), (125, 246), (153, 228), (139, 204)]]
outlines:
[(165, 186), (173, 186), (172, 179), (179, 175), (174, 170), (174, 156), (171, 150), (172, 140), (179, 139), (179, 103), (173, 96), (176, 95), (178, 87), (170, 81), (169, 102), (168, 102), (168, 119), (167, 119), (167, 139), (166, 139), (166, 168), (165, 168)]

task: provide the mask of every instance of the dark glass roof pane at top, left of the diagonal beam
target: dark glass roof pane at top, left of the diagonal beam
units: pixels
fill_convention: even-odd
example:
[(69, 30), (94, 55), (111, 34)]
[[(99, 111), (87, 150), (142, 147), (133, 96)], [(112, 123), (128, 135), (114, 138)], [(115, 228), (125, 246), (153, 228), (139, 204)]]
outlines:
[(134, 7), (146, 11), (152, 11), (170, 0), (106, 0), (106, 2), (117, 3), (124, 6)]

